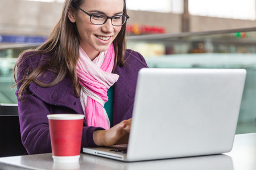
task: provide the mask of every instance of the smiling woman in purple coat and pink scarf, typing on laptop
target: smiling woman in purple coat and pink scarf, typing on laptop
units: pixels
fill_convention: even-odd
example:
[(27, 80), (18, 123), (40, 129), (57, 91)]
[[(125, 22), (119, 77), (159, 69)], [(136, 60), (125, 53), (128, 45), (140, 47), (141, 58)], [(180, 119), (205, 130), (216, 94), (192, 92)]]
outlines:
[(67, 0), (48, 40), (20, 55), (15, 94), (28, 154), (51, 152), (47, 114), (85, 114), (81, 147), (127, 142), (138, 71), (147, 67), (126, 50), (128, 18), (125, 0)]

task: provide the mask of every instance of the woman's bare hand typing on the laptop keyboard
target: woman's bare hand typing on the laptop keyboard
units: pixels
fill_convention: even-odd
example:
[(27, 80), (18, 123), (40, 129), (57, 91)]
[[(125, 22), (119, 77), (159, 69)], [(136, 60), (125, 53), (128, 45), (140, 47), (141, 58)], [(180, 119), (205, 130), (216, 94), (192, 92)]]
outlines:
[(112, 146), (115, 144), (127, 144), (131, 128), (131, 118), (113, 126), (109, 130), (97, 130), (93, 133), (93, 139), (98, 146)]

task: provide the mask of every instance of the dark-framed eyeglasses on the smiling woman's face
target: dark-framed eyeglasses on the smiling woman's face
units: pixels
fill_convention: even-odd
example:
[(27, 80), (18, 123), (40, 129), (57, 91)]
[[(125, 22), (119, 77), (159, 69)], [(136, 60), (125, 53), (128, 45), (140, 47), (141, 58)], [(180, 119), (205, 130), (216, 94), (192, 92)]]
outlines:
[(130, 18), (128, 15), (114, 15), (114, 16), (106, 16), (105, 14), (89, 14), (88, 12), (85, 12), (80, 7), (77, 6), (79, 10), (84, 12), (85, 14), (90, 16), (90, 22), (95, 25), (103, 25), (106, 23), (108, 19), (111, 19), (111, 23), (114, 26), (121, 26), (125, 24), (126, 20)]

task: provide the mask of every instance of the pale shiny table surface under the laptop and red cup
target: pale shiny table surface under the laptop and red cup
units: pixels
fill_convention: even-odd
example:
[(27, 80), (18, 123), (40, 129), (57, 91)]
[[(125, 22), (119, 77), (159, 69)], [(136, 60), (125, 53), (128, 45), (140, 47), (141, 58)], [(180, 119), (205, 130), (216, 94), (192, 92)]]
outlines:
[(0, 169), (256, 169), (256, 133), (235, 136), (232, 151), (226, 154), (125, 163), (81, 154), (79, 163), (53, 163), (52, 154), (0, 158)]

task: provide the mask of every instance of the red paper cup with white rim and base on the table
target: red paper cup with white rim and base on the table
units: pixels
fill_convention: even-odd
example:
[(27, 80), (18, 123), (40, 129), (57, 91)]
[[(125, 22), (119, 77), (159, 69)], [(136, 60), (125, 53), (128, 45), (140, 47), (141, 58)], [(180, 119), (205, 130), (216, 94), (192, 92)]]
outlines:
[(52, 158), (56, 163), (79, 162), (82, 124), (81, 114), (49, 114)]

